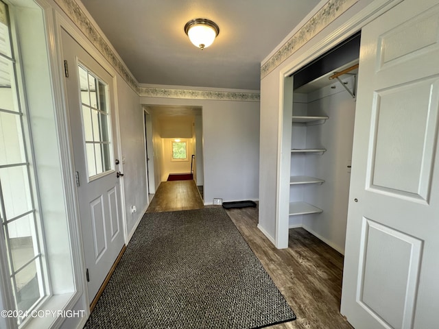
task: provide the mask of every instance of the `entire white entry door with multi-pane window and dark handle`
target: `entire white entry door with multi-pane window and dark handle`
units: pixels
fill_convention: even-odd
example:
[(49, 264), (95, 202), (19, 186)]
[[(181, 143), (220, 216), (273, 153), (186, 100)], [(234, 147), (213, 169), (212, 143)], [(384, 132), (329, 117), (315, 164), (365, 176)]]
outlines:
[[(62, 49), (89, 302), (124, 244), (112, 77), (67, 32)], [(78, 185), (78, 184), (77, 184)], [(85, 274), (85, 273), (84, 273)]]

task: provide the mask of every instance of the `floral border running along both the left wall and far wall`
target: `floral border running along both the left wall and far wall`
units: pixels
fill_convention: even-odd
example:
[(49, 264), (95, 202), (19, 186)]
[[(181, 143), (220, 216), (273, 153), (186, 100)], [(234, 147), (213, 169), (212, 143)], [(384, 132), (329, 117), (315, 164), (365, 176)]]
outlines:
[(81, 30), (81, 32), (90, 40), (96, 49), (108, 60), (134, 90), (141, 97), (161, 97), (161, 98), (182, 98), (182, 99), (211, 99), (227, 101), (259, 101), (259, 93), (239, 93), (224, 91), (202, 91), (202, 90), (185, 90), (170, 88), (150, 88), (141, 87), (139, 82), (132, 77), (130, 71), (126, 69), (121, 60), (116, 56), (106, 40), (102, 38), (93, 23), (88, 19), (80, 5), (75, 0), (54, 0), (69, 16), (71, 21)]

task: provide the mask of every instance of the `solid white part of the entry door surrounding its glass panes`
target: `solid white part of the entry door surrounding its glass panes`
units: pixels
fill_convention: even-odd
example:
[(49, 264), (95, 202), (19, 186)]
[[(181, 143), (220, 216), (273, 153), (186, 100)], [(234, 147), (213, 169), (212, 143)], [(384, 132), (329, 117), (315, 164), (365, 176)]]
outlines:
[[(115, 123), (115, 90), (113, 77), (93, 59), (67, 32), (62, 30), (62, 51), (69, 66), (69, 77), (64, 77), (67, 90), (67, 105), (75, 171), (79, 173), (77, 187), (82, 248), (86, 269), (88, 269), (88, 302), (91, 303), (104, 282), (112, 264), (115, 262), (124, 244), (121, 211), (121, 188), (117, 178), (118, 165), (115, 164), (117, 149), (117, 130)], [(80, 77), (78, 64), (106, 84), (108, 93), (110, 135), (109, 147), (111, 167), (101, 175), (89, 179), (86, 158), (84, 123), (82, 119)], [(99, 114), (97, 114), (99, 115)], [(93, 144), (92, 144), (93, 145)], [(85, 273), (84, 273), (85, 275)]]

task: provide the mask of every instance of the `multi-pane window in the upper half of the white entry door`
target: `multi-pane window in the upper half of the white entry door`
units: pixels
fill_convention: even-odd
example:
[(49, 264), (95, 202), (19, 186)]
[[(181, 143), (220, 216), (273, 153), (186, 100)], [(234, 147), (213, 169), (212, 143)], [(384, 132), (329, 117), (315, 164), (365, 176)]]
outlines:
[(114, 169), (108, 110), (108, 86), (82, 64), (78, 66), (78, 73), (80, 76), (86, 162), (88, 177), (91, 178)]

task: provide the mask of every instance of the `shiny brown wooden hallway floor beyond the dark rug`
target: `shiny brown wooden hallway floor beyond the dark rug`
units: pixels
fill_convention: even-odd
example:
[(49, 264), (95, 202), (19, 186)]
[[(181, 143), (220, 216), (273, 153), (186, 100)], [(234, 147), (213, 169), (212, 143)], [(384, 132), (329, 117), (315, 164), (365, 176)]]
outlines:
[(146, 212), (164, 212), (204, 208), (193, 180), (161, 182)]

